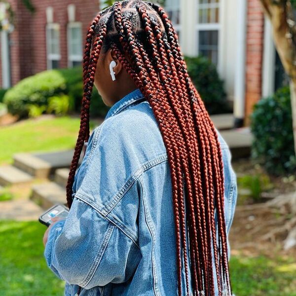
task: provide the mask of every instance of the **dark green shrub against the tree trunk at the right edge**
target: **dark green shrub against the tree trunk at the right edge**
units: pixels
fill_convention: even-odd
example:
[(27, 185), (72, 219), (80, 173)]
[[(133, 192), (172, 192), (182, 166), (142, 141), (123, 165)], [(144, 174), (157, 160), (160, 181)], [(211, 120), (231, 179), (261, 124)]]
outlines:
[(296, 170), (289, 86), (260, 100), (251, 115), (252, 155), (274, 175)]

